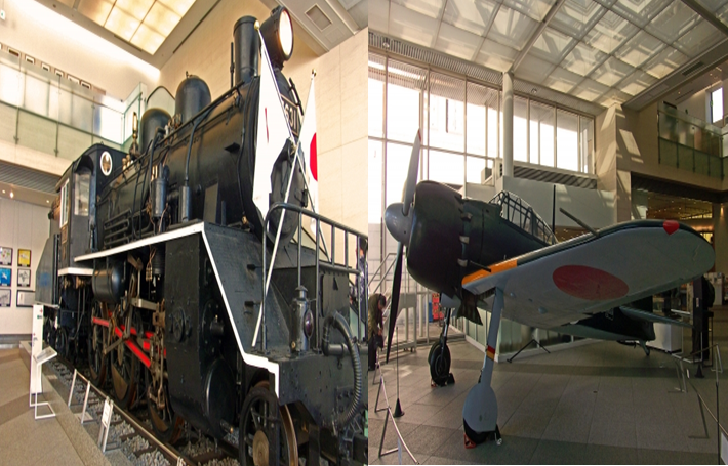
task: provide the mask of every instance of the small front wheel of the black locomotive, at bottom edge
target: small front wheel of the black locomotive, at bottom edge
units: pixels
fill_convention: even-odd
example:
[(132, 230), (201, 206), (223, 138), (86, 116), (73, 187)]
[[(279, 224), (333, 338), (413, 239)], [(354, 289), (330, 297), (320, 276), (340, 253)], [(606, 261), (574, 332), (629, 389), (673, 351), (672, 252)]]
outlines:
[[(278, 426), (280, 447), (271, 448)], [(245, 397), (239, 445), (242, 466), (276, 464), (275, 458), (270, 457), (272, 452), (277, 452), (280, 466), (298, 466), (298, 444), (291, 414), (286, 406), (278, 406), (278, 397), (270, 390), (268, 381), (258, 382)]]

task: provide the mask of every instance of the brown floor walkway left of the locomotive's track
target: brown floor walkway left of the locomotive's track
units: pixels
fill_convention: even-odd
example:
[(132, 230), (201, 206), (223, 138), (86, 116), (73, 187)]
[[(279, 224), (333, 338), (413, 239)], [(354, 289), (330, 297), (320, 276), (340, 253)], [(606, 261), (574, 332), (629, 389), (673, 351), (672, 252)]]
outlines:
[(23, 354), (28, 357), (25, 350), (0, 350), (0, 465), (109, 464), (45, 377), (46, 399), (56, 417), (34, 419)]

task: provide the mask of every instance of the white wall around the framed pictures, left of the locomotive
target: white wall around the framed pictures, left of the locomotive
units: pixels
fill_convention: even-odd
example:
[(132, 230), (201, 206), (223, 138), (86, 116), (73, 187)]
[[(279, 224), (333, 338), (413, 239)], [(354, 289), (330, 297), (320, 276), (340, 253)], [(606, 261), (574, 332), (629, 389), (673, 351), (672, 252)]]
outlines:
[[(0, 198), (0, 248), (12, 248), (10, 265), (0, 265), (10, 269), (10, 286), (0, 279), (0, 303), (2, 295), (10, 291), (10, 307), (0, 307), (0, 335), (29, 335), (31, 330), (32, 307), (18, 307), (18, 290), (35, 290), (35, 270), (48, 239), (48, 208), (24, 202)], [(18, 286), (18, 269), (25, 269), (18, 264), (18, 250), (31, 251), (30, 286)], [(27, 272), (25, 272), (27, 274)]]

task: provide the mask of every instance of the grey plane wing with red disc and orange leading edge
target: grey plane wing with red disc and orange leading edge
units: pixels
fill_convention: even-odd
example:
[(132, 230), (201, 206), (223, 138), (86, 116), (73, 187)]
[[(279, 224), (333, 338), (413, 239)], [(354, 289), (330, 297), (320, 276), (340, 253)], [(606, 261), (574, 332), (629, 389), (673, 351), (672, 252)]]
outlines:
[(672, 220), (604, 228), (466, 276), (476, 296), (503, 290), (503, 317), (549, 329), (694, 280), (715, 262), (713, 247)]

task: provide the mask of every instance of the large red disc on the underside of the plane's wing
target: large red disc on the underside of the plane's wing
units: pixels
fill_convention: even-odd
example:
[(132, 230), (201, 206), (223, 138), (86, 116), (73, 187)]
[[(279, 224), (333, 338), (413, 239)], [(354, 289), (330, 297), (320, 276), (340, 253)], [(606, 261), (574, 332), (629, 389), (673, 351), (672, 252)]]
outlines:
[(554, 284), (564, 293), (590, 301), (617, 299), (629, 286), (609, 272), (586, 265), (564, 265), (554, 270)]

